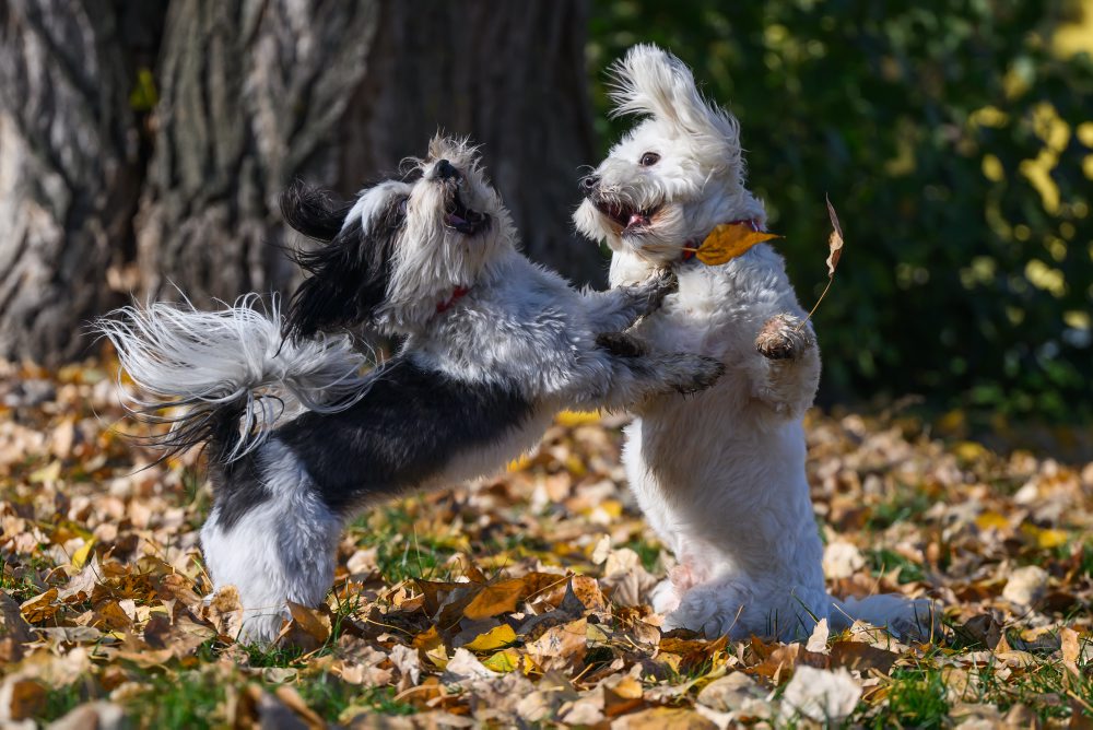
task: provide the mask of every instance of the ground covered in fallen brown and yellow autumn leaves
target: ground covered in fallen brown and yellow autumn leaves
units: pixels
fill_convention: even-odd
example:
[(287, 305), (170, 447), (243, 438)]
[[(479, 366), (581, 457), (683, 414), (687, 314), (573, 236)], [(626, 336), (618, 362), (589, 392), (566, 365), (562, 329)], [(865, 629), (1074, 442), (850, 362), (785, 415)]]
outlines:
[(507, 473), (363, 515), (327, 605), (262, 649), (233, 640), (231, 592), (202, 600), (198, 456), (153, 464), (113, 389), (0, 367), (4, 727), (1093, 723), (1093, 464), (816, 415), (833, 592), (932, 596), (944, 634), (733, 644), (660, 631), (671, 557), (626, 493), (623, 421), (563, 414)]

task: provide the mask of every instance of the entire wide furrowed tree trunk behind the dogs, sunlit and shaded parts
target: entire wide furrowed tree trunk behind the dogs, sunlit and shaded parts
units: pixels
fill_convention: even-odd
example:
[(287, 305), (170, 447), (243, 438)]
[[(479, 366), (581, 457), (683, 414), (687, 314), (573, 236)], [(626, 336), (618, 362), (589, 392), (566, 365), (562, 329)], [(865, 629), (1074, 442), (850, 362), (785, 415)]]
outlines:
[(82, 323), (134, 287), (284, 291), (282, 187), (353, 193), (437, 128), (483, 144), (532, 258), (601, 283), (569, 223), (593, 154), (586, 10), (0, 0), (0, 357), (79, 356)]

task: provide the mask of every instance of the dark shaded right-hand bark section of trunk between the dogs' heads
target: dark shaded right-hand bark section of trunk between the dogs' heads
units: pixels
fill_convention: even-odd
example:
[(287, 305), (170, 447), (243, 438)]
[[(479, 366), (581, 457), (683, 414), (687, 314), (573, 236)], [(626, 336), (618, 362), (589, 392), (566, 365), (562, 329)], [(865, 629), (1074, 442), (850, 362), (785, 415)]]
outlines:
[(424, 152), (437, 128), (482, 144), (527, 254), (578, 282), (607, 264), (573, 233), (578, 167), (595, 163), (583, 0), (388, 0), (346, 116), (341, 187)]

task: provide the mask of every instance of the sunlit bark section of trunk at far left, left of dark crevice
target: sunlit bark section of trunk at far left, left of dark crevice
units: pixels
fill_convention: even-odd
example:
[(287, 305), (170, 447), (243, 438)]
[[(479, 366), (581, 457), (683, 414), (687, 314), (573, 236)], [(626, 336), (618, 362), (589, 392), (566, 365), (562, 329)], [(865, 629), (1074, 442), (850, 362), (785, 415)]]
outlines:
[(0, 357), (80, 355), (116, 296), (140, 184), (125, 5), (0, 2)]

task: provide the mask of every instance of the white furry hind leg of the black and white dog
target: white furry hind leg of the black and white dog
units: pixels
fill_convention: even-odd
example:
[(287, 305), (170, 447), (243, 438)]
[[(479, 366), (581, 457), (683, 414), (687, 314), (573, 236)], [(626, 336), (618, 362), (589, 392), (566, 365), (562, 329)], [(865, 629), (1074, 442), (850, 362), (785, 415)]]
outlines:
[(273, 439), (251, 459), (214, 474), (216, 505), (201, 528), (205, 566), (219, 591), (243, 604), (242, 643), (277, 638), (286, 602), (318, 605), (333, 584), (342, 518), (329, 509), (292, 451)]

